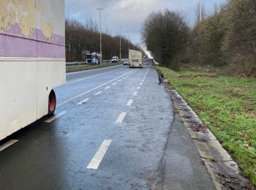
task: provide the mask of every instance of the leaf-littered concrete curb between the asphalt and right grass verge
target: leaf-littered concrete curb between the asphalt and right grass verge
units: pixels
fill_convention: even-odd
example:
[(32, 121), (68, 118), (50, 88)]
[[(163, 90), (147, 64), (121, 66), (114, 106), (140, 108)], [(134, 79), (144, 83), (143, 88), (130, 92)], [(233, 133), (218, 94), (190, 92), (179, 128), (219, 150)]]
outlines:
[(181, 120), (195, 143), (216, 189), (255, 189), (251, 181), (240, 175), (236, 161), (225, 151), (214, 134), (203, 126), (203, 122), (195, 111), (167, 83), (167, 80), (165, 80), (165, 88), (173, 99), (176, 113), (181, 116)]

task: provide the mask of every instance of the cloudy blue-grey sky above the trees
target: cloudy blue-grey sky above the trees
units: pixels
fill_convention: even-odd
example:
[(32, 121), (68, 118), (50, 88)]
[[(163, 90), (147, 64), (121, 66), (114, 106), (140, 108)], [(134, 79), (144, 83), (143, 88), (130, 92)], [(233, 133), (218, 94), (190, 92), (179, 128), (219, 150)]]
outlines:
[(99, 23), (99, 11), (102, 10), (102, 31), (111, 35), (119, 34), (132, 42), (140, 43), (140, 31), (148, 14), (154, 11), (170, 9), (182, 12), (190, 26), (195, 23), (195, 7), (198, 1), (203, 2), (206, 12), (211, 14), (214, 4), (223, 4), (226, 0), (65, 0), (66, 16), (85, 21), (92, 18)]

